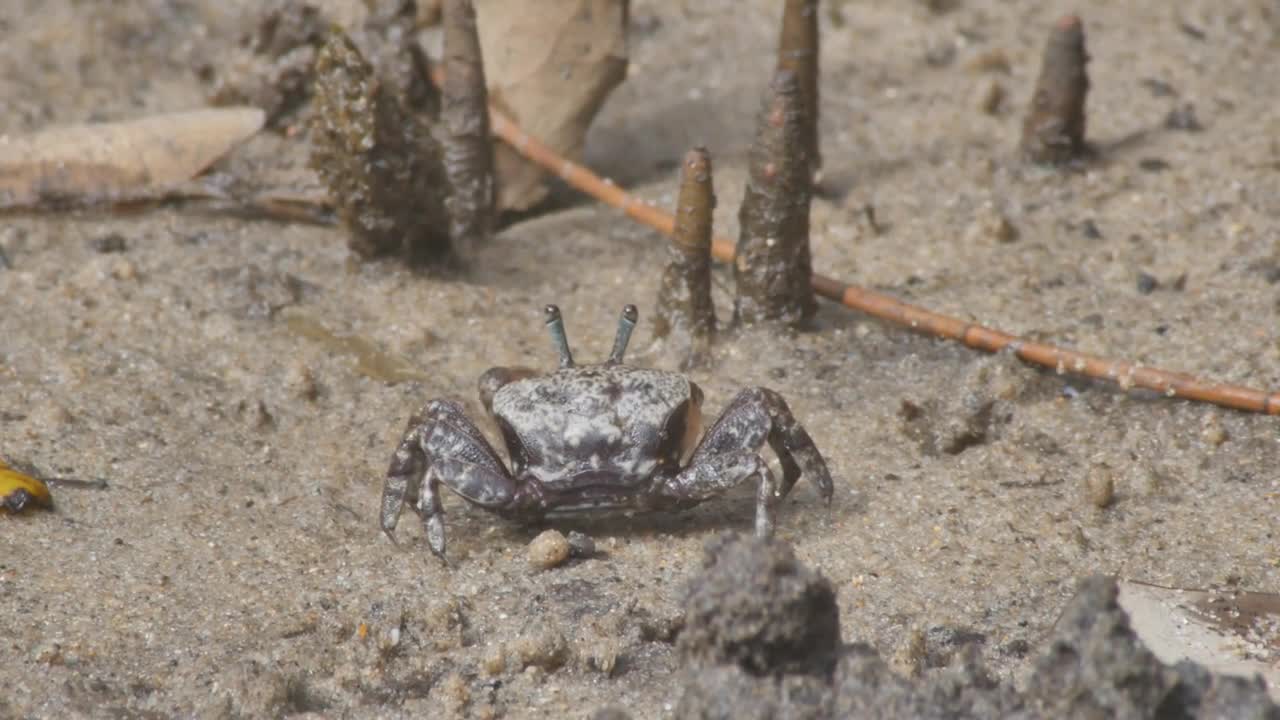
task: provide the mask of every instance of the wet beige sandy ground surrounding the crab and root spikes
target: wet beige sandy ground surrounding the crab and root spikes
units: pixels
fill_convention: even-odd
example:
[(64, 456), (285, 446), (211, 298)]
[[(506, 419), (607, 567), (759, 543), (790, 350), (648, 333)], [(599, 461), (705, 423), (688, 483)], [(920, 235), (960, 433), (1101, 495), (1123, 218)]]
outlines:
[[(200, 106), (198, 68), (237, 44), (251, 5), (4, 3), (0, 131)], [(669, 205), (681, 152), (705, 142), (718, 228), (736, 233), (777, 5), (635, 3), (634, 68), (589, 163)], [(824, 4), (815, 268), (1079, 350), (1280, 387), (1275, 4), (927, 5)], [(1046, 31), (1071, 10), (1101, 156), (1060, 176), (1014, 150)], [(982, 69), (993, 54), (1007, 72)], [(1188, 104), (1203, 131), (1165, 129)], [(241, 161), (279, 161), (280, 143)], [(1014, 241), (987, 229), (993, 213)], [(99, 252), (113, 233), (125, 250)], [(398, 548), (376, 530), (410, 414), (456, 397), (479, 418), (484, 369), (552, 366), (545, 302), (580, 357), (604, 356), (618, 307), (644, 316), (655, 297), (655, 233), (577, 201), (444, 278), (358, 264), (337, 228), (175, 209), (4, 218), (0, 249), (0, 454), (106, 482), (55, 486), (56, 512), (0, 516), (0, 716), (671, 715), (682, 588), (708, 538), (750, 528), (746, 488), (680, 516), (558, 524), (602, 553), (544, 573), (525, 557), (541, 528), (456, 497), (451, 569), (415, 524)], [(727, 318), (732, 281), (717, 282)], [(835, 584), (844, 638), (887, 656), (920, 629), (940, 662), (969, 639), (1016, 683), (1091, 573), (1280, 591), (1272, 418), (1125, 395), (831, 305), (812, 332), (726, 340), (694, 379), (712, 415), (748, 386), (788, 398), (837, 492), (828, 510), (801, 482), (780, 534)], [(1091, 471), (1114, 477), (1106, 510)]]

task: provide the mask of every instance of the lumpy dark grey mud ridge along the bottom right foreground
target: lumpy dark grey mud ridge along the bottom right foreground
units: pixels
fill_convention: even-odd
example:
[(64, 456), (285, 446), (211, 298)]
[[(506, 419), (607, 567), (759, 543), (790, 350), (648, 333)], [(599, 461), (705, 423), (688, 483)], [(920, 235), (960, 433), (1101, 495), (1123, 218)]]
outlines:
[(681, 719), (1280, 719), (1261, 678), (1162, 664), (1101, 575), (1080, 583), (1024, 692), (988, 674), (975, 644), (919, 679), (841, 646), (829, 583), (785, 544), (718, 541), (685, 623)]

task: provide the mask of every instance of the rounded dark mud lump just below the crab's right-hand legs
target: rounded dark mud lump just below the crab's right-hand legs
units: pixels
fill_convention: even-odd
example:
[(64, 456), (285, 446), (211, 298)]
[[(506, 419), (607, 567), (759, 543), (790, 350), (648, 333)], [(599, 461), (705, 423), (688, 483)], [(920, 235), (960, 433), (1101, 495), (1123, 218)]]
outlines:
[(800, 565), (788, 546), (756, 538), (710, 543), (704, 568), (677, 642), (687, 666), (829, 676), (840, 610), (826, 578)]

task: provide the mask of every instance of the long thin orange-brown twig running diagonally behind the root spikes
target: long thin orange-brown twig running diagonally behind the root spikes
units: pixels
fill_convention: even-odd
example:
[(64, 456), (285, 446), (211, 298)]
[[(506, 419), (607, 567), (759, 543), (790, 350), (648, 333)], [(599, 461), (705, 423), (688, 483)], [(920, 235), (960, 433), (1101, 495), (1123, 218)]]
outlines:
[[(493, 132), (529, 160), (554, 173), (570, 186), (596, 200), (622, 210), (627, 217), (671, 236), (676, 229), (675, 218), (664, 210), (649, 205), (591, 170), (557, 154), (531, 137), (507, 115), (489, 106)], [(733, 242), (723, 237), (712, 240), (712, 255), (722, 263), (733, 261)], [(1167, 397), (1180, 397), (1211, 402), (1222, 407), (1280, 414), (1280, 392), (1266, 392), (1243, 386), (1202, 380), (1184, 373), (1146, 368), (1126, 360), (1111, 360), (1066, 350), (1053, 345), (1034, 342), (978, 323), (960, 320), (895, 300), (870, 290), (842, 283), (826, 275), (813, 275), (813, 288), (818, 295), (867, 313), (868, 315), (910, 328), (915, 332), (960, 341), (975, 350), (1000, 352), (1012, 350), (1020, 359), (1051, 368), (1057, 373), (1071, 373), (1101, 380), (1111, 380), (1121, 389), (1144, 388)]]

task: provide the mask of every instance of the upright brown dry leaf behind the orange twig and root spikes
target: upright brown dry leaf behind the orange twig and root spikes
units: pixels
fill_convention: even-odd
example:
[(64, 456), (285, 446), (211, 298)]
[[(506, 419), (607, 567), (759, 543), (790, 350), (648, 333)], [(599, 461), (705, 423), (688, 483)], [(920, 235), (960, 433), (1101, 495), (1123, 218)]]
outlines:
[[(577, 159), (586, 129), (627, 73), (626, 0), (476, 0), (489, 100), (559, 155)], [(498, 206), (547, 196), (545, 174), (511, 147), (494, 154)]]

